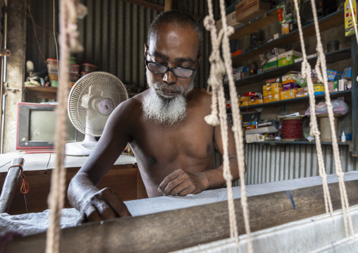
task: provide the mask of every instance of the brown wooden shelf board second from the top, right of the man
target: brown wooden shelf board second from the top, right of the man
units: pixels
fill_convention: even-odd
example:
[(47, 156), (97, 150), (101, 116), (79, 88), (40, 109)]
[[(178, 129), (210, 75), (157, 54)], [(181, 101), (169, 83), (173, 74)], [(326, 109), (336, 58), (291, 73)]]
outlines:
[[(271, 10), (272, 11), (272, 10)], [(262, 18), (261, 18), (262, 19)], [(328, 16), (319, 19), (319, 30), (320, 32), (331, 29), (332, 27), (341, 25), (345, 22), (345, 16), (343, 9), (339, 11), (335, 11), (335, 13), (331, 13)], [(316, 35), (316, 30), (314, 29), (314, 23), (309, 23), (302, 27), (304, 37), (310, 37), (312, 35)], [(240, 33), (240, 27), (235, 31)], [(232, 35), (233, 36), (233, 35)], [(273, 39), (271, 42), (267, 42), (255, 49), (251, 49), (243, 54), (239, 54), (232, 59), (233, 63), (241, 63), (242, 61), (247, 61), (247, 59), (252, 58), (254, 56), (258, 56), (259, 54), (264, 54), (267, 50), (273, 47), (281, 47), (287, 44), (291, 44), (293, 42), (300, 41), (300, 33), (298, 30), (290, 32), (288, 35), (282, 35), (278, 39)]]

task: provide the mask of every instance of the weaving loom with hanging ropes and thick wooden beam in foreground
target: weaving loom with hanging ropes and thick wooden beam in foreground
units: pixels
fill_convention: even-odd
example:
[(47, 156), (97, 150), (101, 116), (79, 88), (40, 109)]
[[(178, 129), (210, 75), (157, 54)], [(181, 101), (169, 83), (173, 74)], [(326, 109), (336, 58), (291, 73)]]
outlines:
[[(225, 109), (225, 97), (223, 94), (222, 75), (224, 73), (232, 73), (232, 63), (230, 60), (230, 51), (228, 47), (228, 36), (233, 31), (232, 27), (226, 24), (224, 1), (220, 1), (221, 16), (223, 17), (223, 30), (216, 33), (214, 26), (214, 18), (212, 12), (211, 1), (209, 4), (209, 16), (204, 20), (204, 25), (207, 30), (211, 31), (211, 42), (213, 44), (213, 53), (211, 54), (211, 76), (209, 78), (209, 85), (211, 86), (213, 94), (212, 113), (206, 117), (206, 122), (212, 125), (221, 123), (221, 135), (223, 136), (223, 164), (224, 164), (224, 178), (226, 179), (228, 192), (228, 206), (223, 202), (210, 204), (208, 206), (195, 206), (188, 209), (178, 209), (162, 214), (150, 214), (148, 216), (139, 216), (135, 218), (121, 218), (113, 221), (106, 221), (104, 223), (91, 223), (84, 226), (74, 228), (66, 228), (63, 230), (60, 237), (60, 216), (64, 195), (64, 144), (65, 142), (56, 142), (57, 152), (57, 171), (53, 174), (51, 185), (51, 226), (47, 230), (47, 252), (168, 252), (175, 249), (183, 249), (193, 245), (208, 243), (192, 249), (183, 249), (182, 252), (263, 252), (264, 250), (276, 252), (280, 249), (290, 250), (291, 252), (321, 252), (334, 250), (335, 247), (340, 247), (340, 250), (345, 252), (357, 252), (358, 243), (354, 241), (354, 237), (358, 239), (358, 235), (354, 233), (353, 228), (358, 226), (358, 208), (352, 207), (350, 204), (358, 204), (357, 190), (358, 181), (353, 180), (347, 183), (347, 189), (343, 180), (342, 169), (340, 168), (338, 144), (335, 137), (334, 125), (331, 125), (333, 149), (335, 151), (335, 168), (338, 175), (338, 183), (331, 184), (328, 187), (328, 178), (324, 170), (322, 159), (321, 144), (319, 141), (319, 130), (317, 128), (316, 116), (314, 114), (314, 91), (313, 84), (310, 78), (307, 79), (309, 94), (310, 94), (310, 108), (311, 108), (311, 135), (316, 137), (316, 148), (319, 158), (319, 169), (322, 178), (322, 186), (314, 188), (303, 188), (293, 192), (277, 192), (271, 195), (261, 195), (250, 197), (247, 199), (247, 192), (249, 187), (245, 187), (244, 181), (244, 151), (242, 143), (242, 130), (240, 125), (240, 109), (237, 104), (237, 99), (232, 99), (233, 104), (233, 132), (235, 133), (235, 144), (237, 149), (237, 159), (240, 171), (240, 201), (234, 201), (237, 196), (236, 189), (231, 187), (230, 168), (228, 168), (228, 154), (227, 154), (227, 121)], [(314, 0), (311, 1), (313, 13), (315, 16), (316, 7)], [(352, 6), (352, 5), (351, 5)], [(295, 1), (297, 8), (297, 1)], [(75, 43), (76, 37), (71, 37), (73, 30), (69, 29), (68, 22), (73, 23), (73, 11), (75, 8), (74, 2), (67, 0), (61, 1), (61, 64), (66, 64), (68, 61), (68, 47), (77, 48)], [(70, 13), (70, 14), (68, 14)], [(319, 38), (319, 30), (317, 25), (317, 17), (315, 16), (317, 41), (321, 44)], [(300, 27), (300, 37), (303, 42), (302, 27), (300, 24), (300, 16), (297, 17)], [(73, 26), (71, 27), (73, 29)], [(75, 34), (76, 36), (77, 34)], [(69, 41), (66, 40), (69, 36)], [(72, 40), (71, 40), (72, 39)], [(223, 43), (223, 58), (220, 58), (219, 49)], [(311, 73), (311, 67), (307, 63), (307, 56), (304, 51), (304, 44), (302, 43), (302, 51), (304, 61), (302, 63), (302, 73), (307, 75)], [(324, 55), (322, 56), (321, 46), (318, 46), (319, 60), (316, 65), (316, 71), (319, 73), (319, 79), (323, 80), (325, 87), (327, 87), (326, 76), (326, 62)], [(61, 68), (63, 71), (65, 65)], [(321, 73), (321, 74), (320, 74)], [(68, 74), (66, 71), (62, 73), (62, 83), (67, 83)], [(307, 75), (308, 77), (309, 75)], [(230, 86), (230, 97), (237, 97), (233, 77), (228, 75)], [(66, 123), (63, 120), (66, 116), (66, 85), (59, 90), (59, 117), (58, 125), (63, 125), (63, 128), (58, 129), (58, 139), (66, 140)], [(331, 124), (333, 123), (333, 111), (331, 100), (326, 89), (326, 103), (328, 105), (328, 116)], [(62, 110), (62, 111), (61, 111)], [(63, 117), (62, 117), (63, 116)], [(61, 136), (61, 135), (62, 136)], [(257, 187), (257, 186), (255, 186)], [(204, 194), (204, 192), (203, 192)], [(295, 199), (294, 201), (292, 199)], [(301, 202), (302, 201), (302, 202)], [(271, 206), (271, 207), (270, 207)], [(236, 210), (235, 210), (236, 207)], [(342, 208), (333, 213), (333, 210)], [(242, 210), (241, 210), (242, 209)], [(257, 211), (259, 209), (259, 211)], [(264, 211), (261, 212), (261, 209)], [(323, 214), (326, 212), (326, 214)], [(229, 216), (227, 215), (229, 213)], [(309, 218), (310, 216), (316, 216)], [(352, 216), (352, 218), (351, 218)], [(273, 218), (272, 218), (273, 217)], [(333, 222), (334, 217), (334, 222)], [(308, 220), (304, 220), (308, 218)], [(273, 223), (271, 220), (276, 219)], [(279, 222), (277, 220), (280, 220)], [(302, 220), (302, 221), (298, 221)], [(228, 226), (228, 221), (230, 227)], [(288, 223), (296, 221), (295, 223)], [(332, 230), (333, 235), (327, 235), (327, 240), (317, 239), (310, 240), (309, 243), (304, 243), (308, 237), (313, 237), (309, 234), (312, 230), (312, 223), (316, 221), (314, 227), (317, 226), (315, 233), (323, 233)], [(287, 223), (287, 224), (285, 224)], [(237, 227), (237, 225), (239, 225)], [(280, 225), (279, 227), (277, 227)], [(250, 228), (251, 226), (251, 228)], [(211, 228), (210, 228), (211, 227)], [(244, 229), (245, 228), (245, 229)], [(271, 228), (268, 229), (267, 228)], [(266, 229), (266, 230), (263, 230)], [(177, 232), (183, 230), (183, 235)], [(254, 233), (251, 233), (251, 230)], [(261, 231), (259, 231), (261, 230)], [(255, 232), (256, 231), (256, 232)], [(338, 231), (335, 233), (335, 231)], [(246, 233), (246, 235), (242, 235)], [(282, 234), (286, 233), (285, 239), (282, 240)], [(220, 239), (230, 239), (218, 241)], [(240, 237), (238, 236), (240, 235)], [(300, 235), (300, 237), (298, 237)], [(350, 237), (348, 237), (350, 236)], [(240, 242), (239, 242), (240, 239)], [(27, 252), (37, 252), (44, 250), (46, 235), (44, 233), (31, 235), (27, 237), (20, 237), (13, 240), (8, 246), (8, 252), (20, 252), (26, 250)], [(178, 240), (180, 243), (171, 242), (171, 240)], [(300, 242), (297, 242), (300, 240)], [(86, 244), (87, 246), (76, 245), (76, 242)], [(212, 242), (217, 241), (217, 242)], [(271, 242), (271, 243), (268, 243)], [(278, 244), (277, 242), (282, 242)], [(337, 242), (336, 245), (333, 242)], [(154, 244), (158, 245), (154, 248)], [(178, 245), (180, 244), (180, 246)], [(295, 244), (301, 245), (294, 251), (292, 247)]]

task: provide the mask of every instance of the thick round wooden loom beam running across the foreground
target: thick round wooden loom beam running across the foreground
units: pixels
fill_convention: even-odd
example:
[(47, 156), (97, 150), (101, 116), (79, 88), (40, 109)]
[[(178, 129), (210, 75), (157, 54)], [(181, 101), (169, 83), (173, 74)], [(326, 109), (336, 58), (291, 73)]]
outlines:
[[(345, 182), (345, 187), (350, 205), (358, 204), (358, 180)], [(329, 190), (333, 209), (340, 209), (338, 183), (330, 184)], [(322, 185), (252, 196), (247, 201), (252, 232), (326, 212)], [(245, 234), (240, 199), (235, 199), (235, 211), (239, 234)], [(216, 202), (65, 228), (60, 252), (171, 252), (229, 236), (228, 203)], [(46, 233), (40, 233), (14, 239), (6, 252), (44, 252), (45, 245)]]

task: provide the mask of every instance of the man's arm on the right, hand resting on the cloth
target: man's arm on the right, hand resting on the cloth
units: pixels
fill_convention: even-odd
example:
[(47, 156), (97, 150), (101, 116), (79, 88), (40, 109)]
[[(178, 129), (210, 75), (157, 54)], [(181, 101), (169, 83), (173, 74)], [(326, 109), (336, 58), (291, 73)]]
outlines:
[[(221, 138), (221, 128), (217, 126), (214, 129), (214, 142), (221, 155), (223, 155), (223, 143)], [(239, 171), (237, 167), (235, 139), (233, 131), (228, 123), (228, 156), (230, 163), (231, 175), (233, 181), (239, 178)], [(245, 166), (246, 171), (246, 166)], [(223, 178), (223, 165), (216, 169), (203, 171), (200, 173), (190, 173), (183, 169), (174, 171), (168, 175), (159, 185), (159, 191), (163, 195), (179, 195), (185, 196), (188, 194), (197, 194), (206, 189), (215, 189), (223, 187), (226, 180)]]

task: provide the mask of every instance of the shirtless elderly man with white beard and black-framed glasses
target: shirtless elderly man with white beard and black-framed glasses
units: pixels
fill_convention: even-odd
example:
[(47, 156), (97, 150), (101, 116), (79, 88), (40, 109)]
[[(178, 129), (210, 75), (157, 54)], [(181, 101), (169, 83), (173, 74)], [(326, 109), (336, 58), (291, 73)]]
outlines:
[[(130, 216), (109, 188), (95, 185), (127, 143), (137, 159), (149, 197), (197, 194), (223, 187), (223, 166), (214, 168), (214, 149), (223, 154), (220, 127), (204, 121), (211, 97), (194, 87), (201, 60), (202, 29), (179, 11), (161, 13), (144, 45), (149, 90), (119, 105), (101, 139), (68, 189), (71, 204), (88, 221)], [(233, 179), (238, 176), (233, 132), (229, 129)]]

